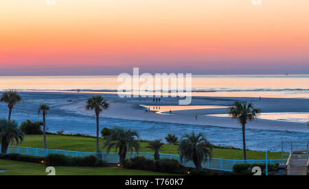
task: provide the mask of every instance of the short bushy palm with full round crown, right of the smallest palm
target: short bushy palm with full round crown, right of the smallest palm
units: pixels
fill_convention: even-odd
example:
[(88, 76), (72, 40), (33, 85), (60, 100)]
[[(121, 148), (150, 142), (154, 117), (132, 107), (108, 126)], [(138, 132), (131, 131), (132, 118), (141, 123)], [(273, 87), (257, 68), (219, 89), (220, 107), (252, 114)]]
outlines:
[(203, 170), (202, 162), (212, 156), (213, 145), (200, 132), (197, 135), (185, 134), (179, 142), (178, 152), (181, 160), (193, 161), (198, 170)]

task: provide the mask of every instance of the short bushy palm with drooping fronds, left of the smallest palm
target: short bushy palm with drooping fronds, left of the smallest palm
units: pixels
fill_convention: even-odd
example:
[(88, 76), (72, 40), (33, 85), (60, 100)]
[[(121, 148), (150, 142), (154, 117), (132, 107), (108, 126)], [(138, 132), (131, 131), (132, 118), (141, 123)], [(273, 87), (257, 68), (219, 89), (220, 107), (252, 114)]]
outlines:
[(120, 158), (120, 162), (124, 162), (126, 160), (126, 153), (128, 150), (133, 153), (133, 149), (135, 151), (139, 151), (139, 142), (137, 139), (139, 138), (139, 134), (136, 131), (131, 131), (131, 129), (126, 129), (122, 127), (116, 127), (113, 129), (113, 132), (110, 136), (107, 137), (106, 142), (104, 144), (104, 149), (107, 147), (107, 152), (111, 150), (111, 148), (115, 147), (115, 151), (119, 149), (118, 155)]

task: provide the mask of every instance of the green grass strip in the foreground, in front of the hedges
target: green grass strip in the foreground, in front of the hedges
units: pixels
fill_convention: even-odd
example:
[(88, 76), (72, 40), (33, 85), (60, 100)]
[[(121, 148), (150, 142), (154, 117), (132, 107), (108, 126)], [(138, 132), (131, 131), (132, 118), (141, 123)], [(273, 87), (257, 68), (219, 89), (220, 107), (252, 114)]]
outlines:
[[(36, 163), (0, 160), (0, 170), (6, 171), (0, 175), (47, 175), (46, 168), (47, 166)], [(171, 175), (118, 167), (55, 166), (55, 169), (56, 175)]]

